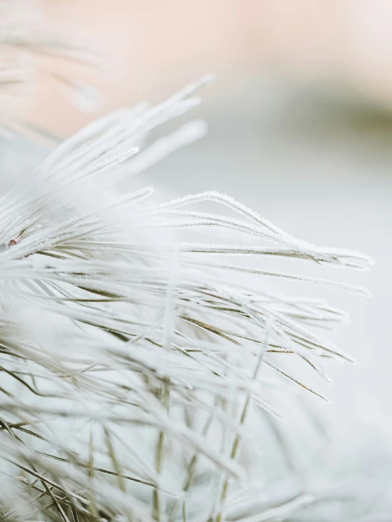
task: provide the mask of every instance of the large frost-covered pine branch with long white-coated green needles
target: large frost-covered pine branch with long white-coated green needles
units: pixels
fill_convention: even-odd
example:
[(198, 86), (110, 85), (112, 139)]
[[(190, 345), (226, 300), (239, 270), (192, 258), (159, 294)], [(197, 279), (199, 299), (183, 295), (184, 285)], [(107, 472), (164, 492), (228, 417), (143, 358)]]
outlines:
[[(346, 315), (263, 291), (263, 278), (367, 291), (261, 262), (371, 260), (297, 240), (217, 192), (122, 193), (125, 175), (204, 134), (197, 121), (148, 139), (206, 81), (89, 124), (0, 200), (6, 520), (261, 522), (317, 502), (304, 488), (265, 499), (263, 430), (280, 415), (268, 398), (287, 380), (324, 398), (274, 354), (328, 379), (323, 360), (351, 359), (316, 330)], [(258, 277), (252, 288), (242, 273)]]

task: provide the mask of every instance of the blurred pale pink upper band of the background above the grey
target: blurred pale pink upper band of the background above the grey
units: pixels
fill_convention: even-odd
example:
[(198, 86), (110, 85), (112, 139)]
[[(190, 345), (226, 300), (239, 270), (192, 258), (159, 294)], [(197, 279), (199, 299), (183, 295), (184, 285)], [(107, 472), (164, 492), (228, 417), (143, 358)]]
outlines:
[[(227, 95), (255, 76), (342, 84), (389, 108), (392, 2), (389, 0), (42, 0), (44, 26), (108, 59), (100, 74), (50, 64), (103, 93), (101, 111), (159, 100), (215, 72), (210, 95)], [(71, 110), (66, 88), (38, 80), (26, 115), (68, 134), (91, 119)], [(54, 110), (55, 108), (55, 110)]]

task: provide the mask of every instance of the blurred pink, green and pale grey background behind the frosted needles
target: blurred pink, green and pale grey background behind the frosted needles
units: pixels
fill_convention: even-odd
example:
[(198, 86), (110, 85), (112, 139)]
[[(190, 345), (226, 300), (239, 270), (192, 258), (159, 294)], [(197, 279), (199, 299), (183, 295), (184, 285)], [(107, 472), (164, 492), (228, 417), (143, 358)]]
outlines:
[[(35, 79), (21, 117), (65, 137), (111, 108), (156, 103), (202, 74), (216, 73), (194, 111), (209, 123), (207, 137), (137, 182), (175, 195), (225, 192), (296, 237), (374, 258), (366, 273), (300, 267), (367, 286), (372, 298), (294, 282), (265, 279), (263, 284), (323, 296), (350, 312), (352, 324), (336, 342), (358, 364), (331, 367), (335, 385), (322, 391), (333, 406), (325, 415), (334, 418), (340, 451), (354, 451), (354, 460), (364, 458), (357, 441), (368, 437), (375, 450), (392, 451), (391, 1), (47, 0), (40, 5), (40, 25), (95, 50), (97, 66), (40, 57), (40, 68), (50, 74)], [(57, 81), (59, 76), (70, 83)], [(13, 151), (6, 161), (17, 175), (18, 168), (30, 167), (45, 153), (36, 149), (16, 158)], [(391, 485), (391, 468), (383, 473)], [(387, 486), (379, 498), (388, 497)]]

